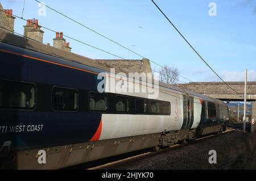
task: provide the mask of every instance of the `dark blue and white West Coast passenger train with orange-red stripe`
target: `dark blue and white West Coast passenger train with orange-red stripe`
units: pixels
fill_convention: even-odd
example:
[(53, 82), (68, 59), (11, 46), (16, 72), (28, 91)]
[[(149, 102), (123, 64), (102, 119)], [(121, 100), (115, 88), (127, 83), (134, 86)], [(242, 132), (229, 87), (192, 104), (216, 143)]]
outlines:
[(54, 56), (54, 48), (46, 54), (6, 42), (0, 41), (0, 169), (61, 169), (226, 130), (229, 111), (221, 100), (162, 82), (155, 99), (108, 86), (99, 92), (98, 74), (106, 70), (76, 62), (72, 53), (73, 61)]

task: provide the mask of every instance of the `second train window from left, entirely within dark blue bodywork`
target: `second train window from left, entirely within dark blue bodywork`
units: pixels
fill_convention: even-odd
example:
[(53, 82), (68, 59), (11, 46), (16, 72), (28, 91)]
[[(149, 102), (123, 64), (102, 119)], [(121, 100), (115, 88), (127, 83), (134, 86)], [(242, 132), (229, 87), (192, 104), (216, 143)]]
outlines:
[(54, 87), (52, 90), (52, 108), (55, 111), (77, 111), (77, 90)]

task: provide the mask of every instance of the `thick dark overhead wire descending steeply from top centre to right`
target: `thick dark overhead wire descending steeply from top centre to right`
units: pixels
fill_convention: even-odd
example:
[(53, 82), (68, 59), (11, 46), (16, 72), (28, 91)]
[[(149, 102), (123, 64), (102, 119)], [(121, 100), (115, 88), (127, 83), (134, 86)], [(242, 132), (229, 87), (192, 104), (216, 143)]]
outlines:
[(164, 12), (160, 9), (160, 7), (159, 7), (158, 5), (156, 5), (156, 3), (154, 2), (154, 0), (151, 0), (151, 1), (152, 1), (152, 3), (154, 3), (154, 5), (157, 7), (157, 9), (164, 15), (164, 17), (168, 20), (168, 22), (171, 23), (171, 25), (172, 25), (172, 26), (175, 28), (175, 30), (180, 34), (180, 36), (183, 37), (183, 39), (187, 42), (187, 44), (189, 45), (189, 47), (191, 47), (191, 48), (194, 50), (194, 52), (201, 58), (201, 60), (203, 60), (203, 62), (210, 68), (210, 70), (212, 70), (213, 73), (216, 74), (217, 77), (220, 78), (221, 81), (224, 82), (226, 86), (228, 86), (230, 89), (232, 89), (234, 92), (236, 92), (236, 93), (240, 96), (240, 94), (239, 94), (236, 90), (234, 90), (232, 87), (230, 87), (230, 86), (228, 85), (228, 83), (226, 83), (226, 82), (224, 81), (224, 79), (222, 79), (222, 78), (220, 77), (220, 75), (218, 75), (218, 74), (216, 73), (216, 71), (214, 71), (213, 68), (210, 67), (210, 65), (207, 63), (207, 61), (204, 60), (204, 58), (196, 51), (196, 49), (192, 47), (192, 45), (188, 42), (187, 39), (185, 39), (185, 37), (182, 35), (182, 33), (176, 28), (176, 26), (171, 22), (171, 20), (166, 16), (166, 14), (164, 14)]

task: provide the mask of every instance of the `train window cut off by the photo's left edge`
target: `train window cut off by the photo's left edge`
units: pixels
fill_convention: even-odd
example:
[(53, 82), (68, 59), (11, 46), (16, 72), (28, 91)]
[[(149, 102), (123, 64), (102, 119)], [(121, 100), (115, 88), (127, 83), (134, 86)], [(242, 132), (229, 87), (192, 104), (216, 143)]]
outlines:
[(0, 108), (8, 110), (33, 110), (35, 86), (30, 83), (0, 80)]

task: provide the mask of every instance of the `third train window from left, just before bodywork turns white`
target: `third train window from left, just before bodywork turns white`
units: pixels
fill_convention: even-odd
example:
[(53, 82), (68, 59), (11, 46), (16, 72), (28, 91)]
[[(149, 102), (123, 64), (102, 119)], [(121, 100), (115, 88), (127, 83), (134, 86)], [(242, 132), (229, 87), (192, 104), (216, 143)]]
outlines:
[(90, 92), (89, 108), (90, 111), (107, 111), (107, 95), (97, 92)]

